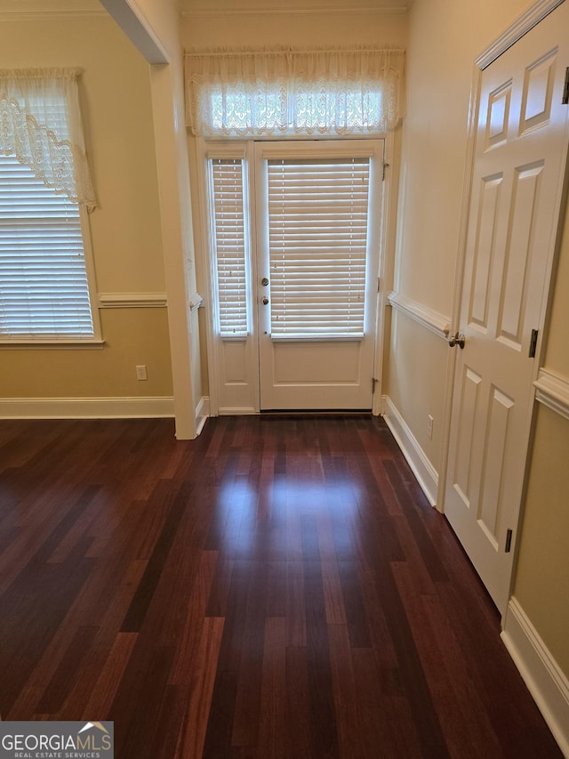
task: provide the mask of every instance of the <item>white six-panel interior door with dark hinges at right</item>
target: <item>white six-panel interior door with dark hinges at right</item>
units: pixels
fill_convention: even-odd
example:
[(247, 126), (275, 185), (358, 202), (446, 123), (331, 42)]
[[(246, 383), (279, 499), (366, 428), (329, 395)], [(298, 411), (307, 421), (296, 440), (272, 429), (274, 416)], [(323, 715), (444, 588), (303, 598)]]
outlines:
[(568, 28), (565, 3), (485, 69), (479, 100), (445, 514), (502, 613), (565, 176)]

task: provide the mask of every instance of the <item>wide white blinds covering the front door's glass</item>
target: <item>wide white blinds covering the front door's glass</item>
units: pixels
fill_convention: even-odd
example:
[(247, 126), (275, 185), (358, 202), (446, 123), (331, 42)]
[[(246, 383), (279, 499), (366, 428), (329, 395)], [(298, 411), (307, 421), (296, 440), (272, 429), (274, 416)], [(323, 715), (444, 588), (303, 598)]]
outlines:
[(364, 335), (369, 158), (268, 160), (271, 335)]

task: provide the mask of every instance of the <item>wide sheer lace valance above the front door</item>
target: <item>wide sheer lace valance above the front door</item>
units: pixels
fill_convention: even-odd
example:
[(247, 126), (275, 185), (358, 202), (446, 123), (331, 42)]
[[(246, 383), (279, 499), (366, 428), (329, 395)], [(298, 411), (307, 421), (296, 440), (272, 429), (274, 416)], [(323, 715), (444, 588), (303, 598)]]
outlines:
[(187, 125), (203, 136), (369, 134), (403, 116), (405, 51), (187, 52)]

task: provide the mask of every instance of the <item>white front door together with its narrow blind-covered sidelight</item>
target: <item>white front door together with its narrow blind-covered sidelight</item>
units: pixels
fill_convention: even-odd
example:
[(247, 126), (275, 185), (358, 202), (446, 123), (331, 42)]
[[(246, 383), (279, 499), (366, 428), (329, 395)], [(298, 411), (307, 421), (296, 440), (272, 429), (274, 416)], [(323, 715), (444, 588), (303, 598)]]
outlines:
[(212, 147), (213, 412), (372, 408), (383, 148)]

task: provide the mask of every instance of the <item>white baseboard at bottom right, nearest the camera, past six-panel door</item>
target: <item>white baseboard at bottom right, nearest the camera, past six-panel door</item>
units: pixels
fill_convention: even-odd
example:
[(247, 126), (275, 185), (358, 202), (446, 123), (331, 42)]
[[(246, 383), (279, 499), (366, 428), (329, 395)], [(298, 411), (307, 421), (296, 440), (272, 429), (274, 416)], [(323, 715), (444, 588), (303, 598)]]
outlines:
[(569, 759), (569, 681), (515, 597), (509, 600), (501, 639)]

